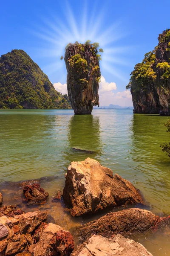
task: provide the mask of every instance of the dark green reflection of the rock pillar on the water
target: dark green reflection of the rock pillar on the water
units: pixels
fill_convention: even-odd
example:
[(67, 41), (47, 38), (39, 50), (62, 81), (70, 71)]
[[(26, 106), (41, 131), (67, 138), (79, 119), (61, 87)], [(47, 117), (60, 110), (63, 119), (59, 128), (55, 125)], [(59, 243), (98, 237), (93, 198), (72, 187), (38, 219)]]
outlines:
[[(102, 154), (99, 116), (74, 115), (68, 123), (68, 151), (65, 158), (82, 161), (87, 157), (97, 158)], [(75, 151), (73, 148), (80, 149)], [(85, 152), (91, 151), (91, 152)]]

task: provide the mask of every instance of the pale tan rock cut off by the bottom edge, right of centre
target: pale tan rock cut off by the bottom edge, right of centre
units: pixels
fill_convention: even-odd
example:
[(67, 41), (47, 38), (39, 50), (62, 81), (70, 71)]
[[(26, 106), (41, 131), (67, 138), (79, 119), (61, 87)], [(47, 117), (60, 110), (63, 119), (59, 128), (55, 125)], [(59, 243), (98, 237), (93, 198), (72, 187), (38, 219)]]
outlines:
[(93, 235), (71, 256), (152, 256), (142, 244), (121, 235), (111, 238)]

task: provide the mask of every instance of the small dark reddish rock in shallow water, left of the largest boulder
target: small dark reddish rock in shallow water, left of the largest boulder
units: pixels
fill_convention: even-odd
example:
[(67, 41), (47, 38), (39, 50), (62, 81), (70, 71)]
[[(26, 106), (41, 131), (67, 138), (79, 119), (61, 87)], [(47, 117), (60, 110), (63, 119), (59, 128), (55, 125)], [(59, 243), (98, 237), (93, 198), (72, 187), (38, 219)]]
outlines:
[(48, 192), (40, 188), (40, 184), (26, 185), (23, 189), (28, 204), (45, 203), (48, 198)]

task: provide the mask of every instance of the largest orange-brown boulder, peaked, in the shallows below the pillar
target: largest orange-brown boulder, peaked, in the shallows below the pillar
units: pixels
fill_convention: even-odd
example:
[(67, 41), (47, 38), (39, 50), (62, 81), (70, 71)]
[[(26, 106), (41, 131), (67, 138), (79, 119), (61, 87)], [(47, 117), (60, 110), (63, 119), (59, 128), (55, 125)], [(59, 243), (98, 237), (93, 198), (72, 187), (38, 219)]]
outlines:
[(142, 203), (139, 191), (94, 159), (72, 162), (66, 174), (63, 200), (71, 215), (79, 216), (107, 207)]

